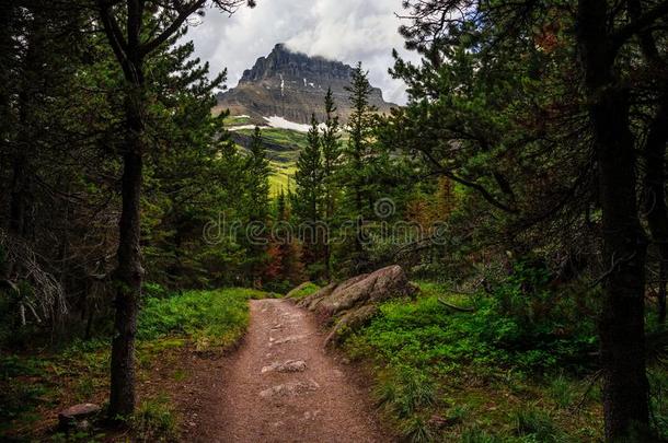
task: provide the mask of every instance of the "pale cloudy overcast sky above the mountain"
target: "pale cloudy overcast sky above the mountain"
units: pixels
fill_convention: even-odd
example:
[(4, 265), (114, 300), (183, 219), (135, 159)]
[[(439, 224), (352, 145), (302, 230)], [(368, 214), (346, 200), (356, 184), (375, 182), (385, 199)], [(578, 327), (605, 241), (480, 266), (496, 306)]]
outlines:
[(286, 43), (311, 56), (361, 61), (385, 101), (403, 104), (403, 83), (388, 74), (392, 48), (406, 58), (415, 56), (403, 47), (395, 12), (401, 12), (401, 0), (257, 0), (254, 9), (242, 8), (231, 18), (207, 10), (187, 38), (212, 72), (228, 68), (229, 88), (275, 44)]

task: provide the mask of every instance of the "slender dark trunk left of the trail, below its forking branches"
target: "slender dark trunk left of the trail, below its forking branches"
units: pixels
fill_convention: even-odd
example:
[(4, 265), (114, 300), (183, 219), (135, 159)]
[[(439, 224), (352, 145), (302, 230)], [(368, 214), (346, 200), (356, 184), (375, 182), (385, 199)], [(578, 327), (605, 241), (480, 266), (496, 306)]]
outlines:
[(126, 96), (126, 147), (123, 154), (123, 210), (119, 221), (118, 267), (115, 272), (116, 315), (112, 341), (110, 417), (125, 417), (135, 409), (135, 335), (141, 293), (140, 219), (142, 178), (141, 107), (143, 102), (140, 62), (134, 63)]

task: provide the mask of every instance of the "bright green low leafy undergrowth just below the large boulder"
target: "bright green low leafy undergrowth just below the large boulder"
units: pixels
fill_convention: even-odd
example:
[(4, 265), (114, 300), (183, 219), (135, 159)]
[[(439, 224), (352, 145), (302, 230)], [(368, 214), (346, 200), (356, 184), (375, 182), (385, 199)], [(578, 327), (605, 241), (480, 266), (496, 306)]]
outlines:
[(555, 369), (591, 349), (590, 340), (578, 337), (541, 336), (542, 341), (531, 341), (518, 319), (503, 316), (494, 299), (475, 300), (475, 314), (451, 312), (437, 295), (415, 303), (385, 303), (382, 315), (349, 345), (355, 353), (373, 349), (398, 365), (403, 362), (433, 372), (449, 372), (467, 362)]

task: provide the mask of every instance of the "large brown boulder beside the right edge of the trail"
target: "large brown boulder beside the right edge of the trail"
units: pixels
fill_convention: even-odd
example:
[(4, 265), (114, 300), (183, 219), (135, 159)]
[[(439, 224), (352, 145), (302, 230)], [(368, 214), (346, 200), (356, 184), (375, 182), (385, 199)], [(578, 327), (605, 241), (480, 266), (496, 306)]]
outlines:
[(298, 303), (323, 317), (334, 317), (334, 327), (325, 345), (337, 343), (350, 331), (366, 325), (385, 300), (413, 295), (417, 289), (408, 282), (401, 266), (393, 265), (371, 273), (332, 283)]

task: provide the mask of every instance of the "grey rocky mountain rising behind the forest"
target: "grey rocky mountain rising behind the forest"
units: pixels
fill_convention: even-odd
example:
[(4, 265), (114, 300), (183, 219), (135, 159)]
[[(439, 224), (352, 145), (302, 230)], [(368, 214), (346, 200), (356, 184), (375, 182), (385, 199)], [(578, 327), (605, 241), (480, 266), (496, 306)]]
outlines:
[[(278, 44), (243, 72), (237, 88), (218, 95), (217, 107), (229, 108), (232, 115), (247, 115), (254, 124), (264, 124), (264, 117), (270, 116), (309, 124), (312, 113), (322, 121), (324, 94), (332, 88), (338, 115), (346, 121), (350, 107), (345, 86), (350, 83), (352, 72), (353, 68), (341, 61), (309, 57)], [(369, 102), (381, 113), (396, 106), (385, 102), (378, 88)]]

